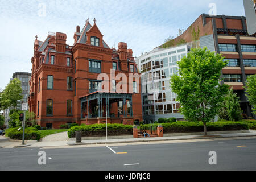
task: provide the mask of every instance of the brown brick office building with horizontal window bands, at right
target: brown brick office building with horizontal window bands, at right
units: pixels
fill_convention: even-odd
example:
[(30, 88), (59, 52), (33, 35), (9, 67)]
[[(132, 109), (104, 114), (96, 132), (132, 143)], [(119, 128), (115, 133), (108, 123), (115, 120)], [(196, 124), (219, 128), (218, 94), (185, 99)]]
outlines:
[(247, 32), (244, 16), (210, 16), (201, 14), (174, 42), (200, 40), (200, 47), (220, 53), (229, 60), (222, 69), (224, 83), (240, 97), (243, 113), (249, 117), (251, 106), (245, 96), (246, 77), (256, 74), (256, 34)]

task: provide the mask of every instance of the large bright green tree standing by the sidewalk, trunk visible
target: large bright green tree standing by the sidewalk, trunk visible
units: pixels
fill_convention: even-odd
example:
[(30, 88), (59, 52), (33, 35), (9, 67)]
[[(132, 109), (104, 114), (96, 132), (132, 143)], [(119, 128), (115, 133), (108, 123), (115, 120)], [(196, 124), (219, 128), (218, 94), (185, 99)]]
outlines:
[(192, 49), (179, 61), (179, 75), (170, 80), (172, 91), (177, 94), (180, 111), (188, 121), (202, 121), (204, 135), (206, 123), (212, 121), (228, 93), (228, 85), (220, 85), (221, 69), (227, 61), (220, 54), (204, 49)]

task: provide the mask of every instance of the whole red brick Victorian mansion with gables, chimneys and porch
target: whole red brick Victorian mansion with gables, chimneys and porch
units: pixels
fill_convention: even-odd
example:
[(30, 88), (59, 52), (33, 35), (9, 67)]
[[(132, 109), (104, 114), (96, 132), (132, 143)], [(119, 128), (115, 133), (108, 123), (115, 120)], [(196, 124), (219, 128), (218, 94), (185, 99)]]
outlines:
[[(44, 42), (36, 37), (28, 104), (38, 124), (59, 128), (74, 122), (105, 123), (106, 111), (108, 123), (142, 121), (141, 86), (139, 78), (133, 77), (138, 76), (133, 51), (123, 42), (118, 50), (109, 48), (96, 20), (93, 26), (86, 20), (82, 31), (77, 26), (73, 38), (74, 44), (69, 46), (67, 35), (60, 32), (49, 33)], [(101, 73), (105, 74), (99, 78)], [(115, 90), (120, 80), (122, 93)]]

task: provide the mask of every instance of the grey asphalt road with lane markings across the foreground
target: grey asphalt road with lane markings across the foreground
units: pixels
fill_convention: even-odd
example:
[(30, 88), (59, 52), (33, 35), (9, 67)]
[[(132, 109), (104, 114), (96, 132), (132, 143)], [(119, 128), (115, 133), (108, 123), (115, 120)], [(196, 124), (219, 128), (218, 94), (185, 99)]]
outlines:
[[(45, 165), (38, 164), (39, 151), (46, 152)], [(216, 152), (217, 164), (209, 164), (210, 151)], [(256, 170), (256, 139), (109, 147), (0, 148), (0, 170)]]

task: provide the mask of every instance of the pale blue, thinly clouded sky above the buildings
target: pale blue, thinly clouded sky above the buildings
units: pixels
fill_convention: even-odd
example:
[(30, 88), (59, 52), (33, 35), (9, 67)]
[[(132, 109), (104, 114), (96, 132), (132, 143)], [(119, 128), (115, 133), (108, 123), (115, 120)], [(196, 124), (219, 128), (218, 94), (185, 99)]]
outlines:
[[(134, 56), (164, 43), (168, 36), (186, 30), (215, 3), (218, 15), (245, 16), (242, 0), (0, 0), (0, 89), (14, 72), (31, 72), (35, 36), (44, 41), (48, 32), (64, 32), (73, 45), (76, 26), (97, 20), (109, 47), (126, 42)], [(45, 7), (45, 9), (44, 9)], [(45, 10), (45, 11), (44, 11)], [(44, 14), (45, 12), (45, 14)]]

